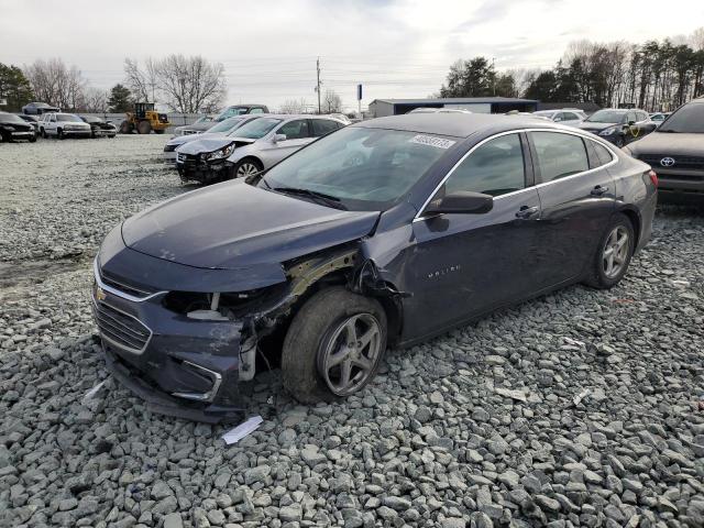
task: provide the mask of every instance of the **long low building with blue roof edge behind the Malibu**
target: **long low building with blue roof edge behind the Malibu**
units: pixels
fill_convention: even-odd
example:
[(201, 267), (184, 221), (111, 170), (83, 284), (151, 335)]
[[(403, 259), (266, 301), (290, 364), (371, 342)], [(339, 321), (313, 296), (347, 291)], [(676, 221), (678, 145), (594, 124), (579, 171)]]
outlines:
[(374, 99), (370, 103), (373, 118), (399, 116), (415, 108), (455, 108), (474, 113), (506, 113), (512, 110), (535, 112), (538, 101), (509, 97), (452, 97), (442, 99)]

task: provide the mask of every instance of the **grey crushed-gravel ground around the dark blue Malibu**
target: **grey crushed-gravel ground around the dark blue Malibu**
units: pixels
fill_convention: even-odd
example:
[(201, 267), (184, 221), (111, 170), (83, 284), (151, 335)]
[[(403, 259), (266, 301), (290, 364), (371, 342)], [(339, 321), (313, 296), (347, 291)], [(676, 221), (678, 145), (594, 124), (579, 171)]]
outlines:
[(239, 444), (106, 380), (90, 258), (183, 191), (163, 136), (0, 145), (0, 526), (704, 526), (704, 217), (668, 209), (610, 292), (391, 351), (343, 404), (260, 375)]

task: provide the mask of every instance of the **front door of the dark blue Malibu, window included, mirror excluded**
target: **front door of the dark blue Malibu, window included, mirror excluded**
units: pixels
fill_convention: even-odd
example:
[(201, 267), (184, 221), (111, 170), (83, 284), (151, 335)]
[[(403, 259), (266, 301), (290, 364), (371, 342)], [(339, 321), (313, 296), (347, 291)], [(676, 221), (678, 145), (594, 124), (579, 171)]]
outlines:
[[(481, 144), (454, 167), (438, 194), (494, 196), (490, 212), (420, 216), (405, 265), (407, 339), (432, 333), (519, 299), (531, 290), (531, 246), (540, 218), (538, 191), (518, 133)], [(436, 195), (437, 196), (437, 195)]]

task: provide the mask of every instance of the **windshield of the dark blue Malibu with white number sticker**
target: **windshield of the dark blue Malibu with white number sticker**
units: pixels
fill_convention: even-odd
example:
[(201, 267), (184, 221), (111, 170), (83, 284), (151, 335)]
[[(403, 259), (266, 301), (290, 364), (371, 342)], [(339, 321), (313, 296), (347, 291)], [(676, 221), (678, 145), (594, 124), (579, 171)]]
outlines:
[(263, 180), (274, 189), (324, 194), (351, 210), (384, 210), (455, 142), (417, 132), (340, 129), (272, 167)]

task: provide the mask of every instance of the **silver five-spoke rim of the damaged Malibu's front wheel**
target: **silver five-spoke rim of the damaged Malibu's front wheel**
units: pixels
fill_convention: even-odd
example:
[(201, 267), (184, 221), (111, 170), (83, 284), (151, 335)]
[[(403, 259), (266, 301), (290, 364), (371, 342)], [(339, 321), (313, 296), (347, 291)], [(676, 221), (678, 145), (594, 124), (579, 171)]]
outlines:
[(330, 391), (345, 396), (364, 385), (376, 365), (381, 345), (380, 324), (371, 314), (358, 314), (342, 321), (318, 361), (318, 370)]

